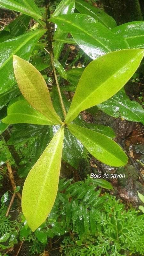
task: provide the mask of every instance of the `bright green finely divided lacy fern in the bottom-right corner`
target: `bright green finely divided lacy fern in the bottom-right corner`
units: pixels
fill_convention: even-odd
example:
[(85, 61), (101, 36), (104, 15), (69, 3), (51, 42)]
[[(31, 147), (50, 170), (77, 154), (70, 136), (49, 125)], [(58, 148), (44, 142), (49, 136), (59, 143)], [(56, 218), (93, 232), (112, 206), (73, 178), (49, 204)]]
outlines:
[[(124, 252), (139, 253), (144, 255), (144, 217), (138, 216), (138, 212), (130, 209), (124, 210), (124, 205), (116, 201), (115, 196), (106, 194), (107, 199), (101, 210), (92, 212), (91, 218), (96, 227), (93, 231), (87, 231), (87, 240), (81, 236), (81, 230), (76, 228), (77, 235), (73, 237), (76, 241), (80, 239), (83, 246), (74, 249), (64, 248), (65, 255), (71, 255), (74, 250), (75, 256), (122, 256)], [(92, 225), (91, 225), (92, 226)], [(91, 228), (91, 227), (90, 227)], [(92, 234), (93, 233), (93, 234)], [(93, 241), (93, 242), (92, 242)], [(66, 245), (66, 240), (64, 241)], [(71, 243), (70, 243), (71, 244)]]

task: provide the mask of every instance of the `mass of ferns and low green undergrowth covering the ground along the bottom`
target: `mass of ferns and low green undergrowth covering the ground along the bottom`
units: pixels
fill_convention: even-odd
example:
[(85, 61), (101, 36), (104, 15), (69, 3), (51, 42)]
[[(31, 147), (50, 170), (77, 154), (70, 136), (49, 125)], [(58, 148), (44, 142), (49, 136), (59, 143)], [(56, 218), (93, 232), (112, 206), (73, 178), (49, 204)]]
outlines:
[(0, 210), (3, 249), (13, 247), (24, 238), (23, 246), (28, 241), (31, 255), (38, 255), (47, 250), (50, 238), (61, 236), (62, 256), (144, 254), (144, 215), (135, 209), (126, 211), (115, 196), (101, 195), (98, 180), (89, 176), (76, 183), (72, 179), (60, 180), (52, 211), (35, 232), (22, 214), (11, 221), (10, 217), (5, 217), (6, 210), (3, 203)]

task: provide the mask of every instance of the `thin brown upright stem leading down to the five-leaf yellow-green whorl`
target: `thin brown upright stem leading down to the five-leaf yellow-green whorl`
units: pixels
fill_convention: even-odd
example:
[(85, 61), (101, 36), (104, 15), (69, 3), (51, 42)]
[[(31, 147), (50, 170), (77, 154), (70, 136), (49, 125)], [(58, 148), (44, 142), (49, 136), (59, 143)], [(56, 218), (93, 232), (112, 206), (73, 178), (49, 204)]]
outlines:
[(58, 93), (60, 96), (60, 103), (61, 103), (61, 107), (64, 113), (64, 116), (66, 117), (67, 113), (64, 107), (64, 103), (62, 100), (62, 96), (61, 96), (61, 92), (60, 92), (60, 86), (59, 86), (59, 82), (58, 82), (58, 78), (57, 78), (57, 74), (56, 74), (56, 69), (54, 66), (54, 62), (53, 62), (53, 48), (52, 48), (52, 37), (51, 37), (51, 28), (50, 28), (50, 23), (48, 21), (48, 19), (50, 18), (50, 8), (49, 8), (49, 4), (46, 7), (46, 20), (45, 20), (45, 24), (46, 24), (46, 28), (47, 28), (47, 41), (48, 41), (48, 48), (49, 48), (49, 53), (50, 53), (50, 58), (51, 58), (51, 62), (52, 62), (52, 69), (53, 69), (53, 74), (54, 74), (54, 83), (57, 85), (58, 88)]

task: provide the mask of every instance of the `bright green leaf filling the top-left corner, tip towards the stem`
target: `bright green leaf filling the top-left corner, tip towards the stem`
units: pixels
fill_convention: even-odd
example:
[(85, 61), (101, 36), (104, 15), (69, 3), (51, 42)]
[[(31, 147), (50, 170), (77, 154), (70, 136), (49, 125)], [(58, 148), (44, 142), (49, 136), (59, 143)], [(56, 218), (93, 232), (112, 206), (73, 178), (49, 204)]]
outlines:
[(0, 7), (22, 12), (34, 19), (43, 19), (41, 12), (33, 0), (0, 0)]

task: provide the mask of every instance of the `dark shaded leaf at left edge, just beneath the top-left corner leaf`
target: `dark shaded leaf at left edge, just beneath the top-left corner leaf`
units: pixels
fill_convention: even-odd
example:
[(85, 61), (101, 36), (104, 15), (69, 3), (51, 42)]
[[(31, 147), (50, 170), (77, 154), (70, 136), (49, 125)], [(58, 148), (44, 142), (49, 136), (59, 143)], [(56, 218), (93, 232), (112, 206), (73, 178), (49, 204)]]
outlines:
[[(5, 26), (4, 29), (0, 31), (0, 43), (24, 34), (26, 28), (28, 27), (29, 21), (30, 17), (22, 14), (17, 19), (13, 20), (9, 25), (7, 25), (10, 31), (6, 31), (5, 29), (7, 26)], [(23, 24), (25, 24), (25, 26)]]

